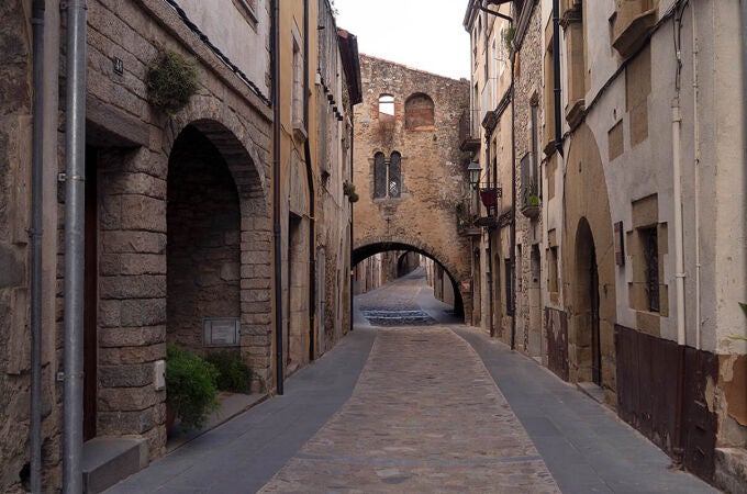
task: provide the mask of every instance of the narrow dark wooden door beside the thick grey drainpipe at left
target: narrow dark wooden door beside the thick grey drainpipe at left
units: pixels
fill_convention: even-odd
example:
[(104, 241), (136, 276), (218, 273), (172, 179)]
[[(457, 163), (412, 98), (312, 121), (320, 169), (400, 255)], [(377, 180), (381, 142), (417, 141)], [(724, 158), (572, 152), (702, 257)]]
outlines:
[(98, 313), (98, 197), (96, 148), (86, 148), (86, 273), (83, 281), (83, 440), (96, 437), (97, 313)]

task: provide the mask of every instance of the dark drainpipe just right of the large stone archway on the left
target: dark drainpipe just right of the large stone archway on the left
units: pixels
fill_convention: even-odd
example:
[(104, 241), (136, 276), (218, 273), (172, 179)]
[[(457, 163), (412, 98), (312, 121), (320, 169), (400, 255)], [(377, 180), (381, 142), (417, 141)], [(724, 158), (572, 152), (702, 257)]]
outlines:
[(282, 270), (280, 255), (280, 0), (272, 0), (272, 221), (275, 256), (276, 392), (283, 393)]

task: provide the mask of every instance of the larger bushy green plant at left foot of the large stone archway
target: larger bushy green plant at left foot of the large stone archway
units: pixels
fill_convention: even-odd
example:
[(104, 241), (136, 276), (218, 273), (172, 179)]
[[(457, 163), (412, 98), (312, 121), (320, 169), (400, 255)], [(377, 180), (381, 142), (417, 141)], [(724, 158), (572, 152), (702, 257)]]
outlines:
[(166, 348), (166, 406), (186, 429), (201, 428), (220, 406), (215, 381), (218, 370), (191, 351)]

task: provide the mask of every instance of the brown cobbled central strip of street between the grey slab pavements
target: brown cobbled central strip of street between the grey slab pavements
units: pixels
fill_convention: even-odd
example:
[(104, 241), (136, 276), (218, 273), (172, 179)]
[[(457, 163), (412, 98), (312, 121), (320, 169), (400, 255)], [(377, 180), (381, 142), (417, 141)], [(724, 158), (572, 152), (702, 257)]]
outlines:
[(381, 329), (350, 400), (260, 492), (559, 492), (477, 353)]

